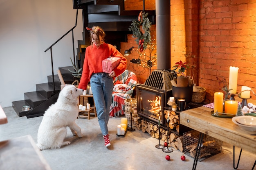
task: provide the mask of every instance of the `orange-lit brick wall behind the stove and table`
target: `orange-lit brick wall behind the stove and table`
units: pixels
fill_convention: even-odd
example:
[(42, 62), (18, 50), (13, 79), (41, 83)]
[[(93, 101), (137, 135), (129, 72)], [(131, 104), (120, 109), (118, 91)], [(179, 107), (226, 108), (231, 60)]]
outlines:
[[(191, 62), (184, 54), (195, 55), (192, 74), (195, 83), (207, 89), (207, 102), (213, 102), (214, 92), (222, 92), (222, 80), (229, 83), (229, 66), (239, 68), (238, 92), (243, 85), (256, 92), (255, 25), (256, 0), (171, 1), (171, 67), (180, 60)], [(137, 44), (130, 36), (122, 45), (124, 52)], [(141, 81), (147, 77), (139, 76)]]

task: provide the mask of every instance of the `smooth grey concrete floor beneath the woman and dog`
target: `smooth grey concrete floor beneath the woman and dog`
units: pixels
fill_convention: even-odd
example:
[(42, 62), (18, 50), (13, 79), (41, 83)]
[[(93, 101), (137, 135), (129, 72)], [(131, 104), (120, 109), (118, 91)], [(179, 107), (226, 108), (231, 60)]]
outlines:
[[(0, 141), (31, 135), (36, 142), (43, 117), (27, 119), (18, 117), (12, 107), (3, 109), (8, 123), (0, 125)], [(193, 158), (185, 155), (186, 161), (182, 161), (180, 157), (184, 153), (179, 150), (162, 152), (162, 149), (155, 148), (159, 144), (158, 139), (142, 133), (136, 127), (136, 131), (128, 131), (125, 137), (118, 137), (117, 125), (121, 123), (121, 117), (110, 118), (109, 148), (104, 146), (97, 118), (91, 116), (90, 120), (78, 119), (76, 123), (82, 129), (82, 138), (73, 136), (68, 130), (66, 138), (72, 141), (70, 145), (41, 151), (52, 170), (191, 170), (193, 167)], [(236, 148), (236, 160), (239, 152), (240, 148)], [(170, 155), (170, 161), (165, 159), (166, 155)], [(14, 157), (12, 159), (16, 161)], [(255, 160), (255, 154), (243, 150), (238, 170), (252, 169)], [(233, 170), (233, 146), (223, 142), (222, 152), (198, 162), (197, 169)]]

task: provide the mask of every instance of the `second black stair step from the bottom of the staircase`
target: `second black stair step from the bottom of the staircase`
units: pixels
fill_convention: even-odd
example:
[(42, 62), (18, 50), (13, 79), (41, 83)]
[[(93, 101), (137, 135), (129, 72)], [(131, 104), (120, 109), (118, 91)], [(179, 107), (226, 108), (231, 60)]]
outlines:
[(31, 106), (32, 108), (37, 107), (42, 102), (47, 100), (44, 96), (42, 96), (39, 92), (27, 92), (24, 93), (25, 101)]

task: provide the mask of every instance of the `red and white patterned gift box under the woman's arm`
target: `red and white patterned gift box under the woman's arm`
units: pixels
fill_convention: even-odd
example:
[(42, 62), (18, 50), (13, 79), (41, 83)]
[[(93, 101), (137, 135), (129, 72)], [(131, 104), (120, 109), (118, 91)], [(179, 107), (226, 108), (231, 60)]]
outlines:
[(114, 68), (119, 65), (121, 61), (120, 57), (108, 57), (107, 59), (102, 60), (102, 70), (105, 73), (111, 73)]

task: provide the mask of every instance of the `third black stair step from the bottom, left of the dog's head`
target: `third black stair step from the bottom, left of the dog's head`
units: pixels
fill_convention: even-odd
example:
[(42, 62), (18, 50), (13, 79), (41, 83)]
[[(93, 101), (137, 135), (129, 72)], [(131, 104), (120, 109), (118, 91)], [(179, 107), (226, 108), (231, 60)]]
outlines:
[(55, 92), (53, 92), (53, 90), (53, 85), (51, 83), (36, 84), (36, 92), (41, 94), (46, 99), (61, 91), (61, 85), (55, 87)]

